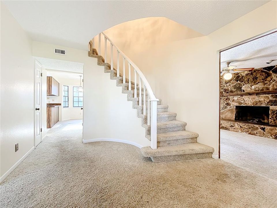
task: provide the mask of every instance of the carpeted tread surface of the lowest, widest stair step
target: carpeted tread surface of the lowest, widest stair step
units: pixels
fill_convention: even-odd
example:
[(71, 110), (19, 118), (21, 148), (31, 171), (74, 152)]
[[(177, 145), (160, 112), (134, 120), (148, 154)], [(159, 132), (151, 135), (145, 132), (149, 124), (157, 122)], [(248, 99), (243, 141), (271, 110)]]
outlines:
[(141, 148), (141, 152), (144, 157), (160, 157), (169, 155), (212, 153), (214, 152), (214, 148), (194, 142), (175, 146), (162, 146), (157, 147), (157, 149), (152, 149), (151, 147), (146, 146)]

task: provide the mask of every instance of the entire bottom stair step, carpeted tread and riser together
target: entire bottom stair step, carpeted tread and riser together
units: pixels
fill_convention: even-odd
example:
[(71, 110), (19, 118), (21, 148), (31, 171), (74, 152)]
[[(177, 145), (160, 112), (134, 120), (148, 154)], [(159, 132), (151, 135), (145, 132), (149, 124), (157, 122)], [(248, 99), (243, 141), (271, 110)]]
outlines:
[(144, 157), (151, 157), (153, 162), (200, 159), (212, 157), (214, 148), (194, 142), (174, 146), (162, 146), (157, 149), (142, 147)]

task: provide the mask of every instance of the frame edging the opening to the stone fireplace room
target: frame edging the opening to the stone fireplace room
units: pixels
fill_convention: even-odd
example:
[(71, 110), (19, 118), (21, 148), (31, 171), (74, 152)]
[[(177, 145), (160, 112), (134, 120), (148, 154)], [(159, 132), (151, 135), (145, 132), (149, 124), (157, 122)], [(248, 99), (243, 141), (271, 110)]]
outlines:
[(264, 33), (262, 33), (262, 34), (259, 34), (259, 35), (257, 35), (257, 36), (254, 36), (254, 37), (252, 37), (252, 38), (248, 38), (248, 39), (246, 39), (246, 40), (243, 40), (243, 41), (241, 41), (241, 42), (238, 42), (238, 43), (235, 43), (235, 44), (233, 44), (233, 45), (231, 45), (231, 46), (228, 46), (228, 47), (226, 47), (226, 48), (223, 48), (223, 49), (220, 49), (220, 50), (218, 50), (217, 51), (217, 56), (218, 56), (218, 60), (219, 60), (219, 66), (218, 66), (218, 69), (219, 69), (219, 87), (218, 87), (218, 101), (219, 101), (219, 107), (218, 107), (218, 111), (219, 111), (219, 116), (218, 116), (218, 158), (220, 158), (220, 53), (222, 52), (222, 51), (226, 51), (226, 50), (228, 50), (228, 49), (231, 49), (231, 48), (234, 48), (234, 47), (237, 47), (237, 46), (239, 46), (239, 45), (242, 45), (242, 44), (245, 44), (245, 43), (247, 43), (247, 42), (250, 42), (250, 41), (253, 41), (253, 40), (256, 40), (256, 39), (259, 39), (259, 38), (262, 38), (262, 37), (264, 37), (264, 36), (267, 36), (267, 35), (270, 35), (270, 34), (272, 34), (272, 33), (276, 33), (277, 32), (277, 28), (275, 28), (275, 29), (272, 29), (272, 30), (269, 30), (269, 31), (267, 31), (267, 32), (264, 32)]

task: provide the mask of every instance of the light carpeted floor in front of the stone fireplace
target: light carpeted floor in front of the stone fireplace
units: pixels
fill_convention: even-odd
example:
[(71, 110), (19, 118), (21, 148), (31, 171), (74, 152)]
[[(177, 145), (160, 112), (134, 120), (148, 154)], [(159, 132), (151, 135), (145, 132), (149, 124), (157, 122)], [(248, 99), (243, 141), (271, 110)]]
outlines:
[(277, 140), (220, 130), (220, 158), (277, 181)]

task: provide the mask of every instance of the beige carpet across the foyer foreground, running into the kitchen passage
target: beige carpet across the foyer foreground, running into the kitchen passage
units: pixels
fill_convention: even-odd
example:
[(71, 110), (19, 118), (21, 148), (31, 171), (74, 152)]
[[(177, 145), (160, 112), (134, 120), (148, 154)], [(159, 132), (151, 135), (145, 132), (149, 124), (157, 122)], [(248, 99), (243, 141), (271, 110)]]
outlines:
[(1, 207), (276, 207), (276, 181), (222, 160), (153, 163), (129, 144), (82, 144), (58, 122), (1, 183)]

